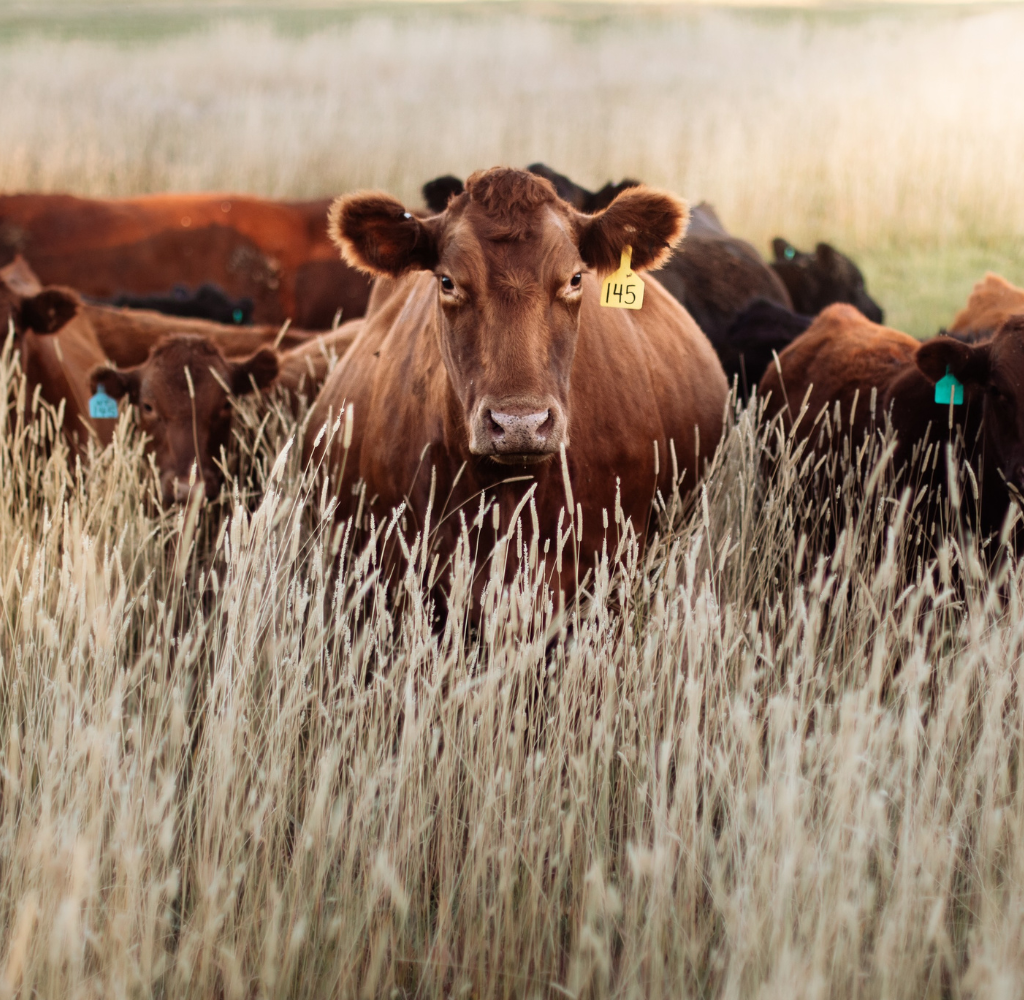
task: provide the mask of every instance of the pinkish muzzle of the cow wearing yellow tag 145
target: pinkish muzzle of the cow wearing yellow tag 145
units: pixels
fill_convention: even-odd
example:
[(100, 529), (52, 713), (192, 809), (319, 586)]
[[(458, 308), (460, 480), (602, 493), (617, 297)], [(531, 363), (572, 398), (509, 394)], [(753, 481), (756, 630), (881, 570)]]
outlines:
[(484, 398), (470, 422), (469, 450), (504, 465), (543, 462), (568, 446), (565, 410), (557, 400)]

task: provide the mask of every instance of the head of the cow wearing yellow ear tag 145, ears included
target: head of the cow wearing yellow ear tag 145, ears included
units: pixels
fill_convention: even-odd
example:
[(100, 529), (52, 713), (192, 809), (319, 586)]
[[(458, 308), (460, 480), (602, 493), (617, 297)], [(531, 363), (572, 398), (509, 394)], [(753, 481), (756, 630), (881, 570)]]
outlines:
[(645, 187), (584, 215), (549, 181), (495, 168), (427, 219), (387, 194), (345, 195), (330, 231), (345, 259), (372, 274), (434, 273), (440, 353), (469, 451), (511, 465), (568, 444), (584, 273), (614, 270), (626, 245), (636, 269), (657, 266), (686, 215), (675, 195)]

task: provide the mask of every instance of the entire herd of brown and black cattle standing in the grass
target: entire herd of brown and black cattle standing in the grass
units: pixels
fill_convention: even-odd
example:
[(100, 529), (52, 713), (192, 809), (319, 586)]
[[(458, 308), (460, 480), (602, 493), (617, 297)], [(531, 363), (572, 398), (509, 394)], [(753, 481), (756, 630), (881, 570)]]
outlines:
[[(862, 435), (870, 398), (897, 464), (962, 435), (989, 525), (1024, 489), (1024, 291), (995, 275), (922, 343), (882, 325), (828, 245), (778, 238), (766, 264), (710, 205), (635, 181), (591, 192), (536, 164), (424, 198), (0, 197), (0, 321), (30, 398), (63, 405), (79, 453), (113, 434), (91, 402), (127, 399), (173, 503), (194, 467), (193, 489), (219, 491), (231, 395), (315, 396), (304, 459), (339, 515), (367, 528), (406, 504), (415, 529), (432, 506), (442, 555), (474, 518), (496, 538), (517, 513), (571, 529), (585, 565), (612, 512), (645, 530), (657, 491), (699, 478), (733, 380), (805, 437), (836, 406)], [(643, 307), (600, 308), (625, 247)], [(936, 401), (944, 379), (962, 401)], [(558, 562), (571, 590), (574, 560)]]

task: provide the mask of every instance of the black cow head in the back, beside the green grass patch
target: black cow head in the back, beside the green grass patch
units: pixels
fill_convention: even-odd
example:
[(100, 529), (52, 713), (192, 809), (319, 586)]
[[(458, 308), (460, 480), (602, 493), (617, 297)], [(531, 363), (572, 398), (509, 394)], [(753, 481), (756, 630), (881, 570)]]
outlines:
[(813, 254), (797, 250), (788, 241), (772, 241), (772, 268), (782, 279), (793, 308), (805, 316), (816, 316), (834, 302), (849, 302), (871, 322), (882, 322), (882, 307), (867, 294), (864, 275), (846, 254), (819, 243)]

